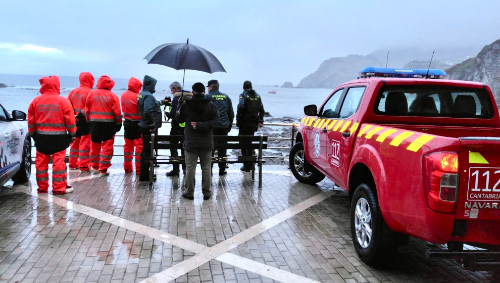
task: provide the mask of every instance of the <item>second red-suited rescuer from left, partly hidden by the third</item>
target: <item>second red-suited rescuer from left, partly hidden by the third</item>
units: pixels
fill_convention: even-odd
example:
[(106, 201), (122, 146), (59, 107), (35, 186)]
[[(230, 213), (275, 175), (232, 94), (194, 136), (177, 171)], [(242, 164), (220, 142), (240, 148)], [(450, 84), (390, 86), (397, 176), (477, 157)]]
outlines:
[(88, 154), (90, 153), (90, 132), (85, 121), (85, 100), (94, 86), (94, 77), (89, 72), (80, 73), (80, 86), (71, 90), (68, 100), (73, 106), (76, 119), (76, 138), (70, 145), (69, 167), (70, 170), (86, 172), (90, 170)]

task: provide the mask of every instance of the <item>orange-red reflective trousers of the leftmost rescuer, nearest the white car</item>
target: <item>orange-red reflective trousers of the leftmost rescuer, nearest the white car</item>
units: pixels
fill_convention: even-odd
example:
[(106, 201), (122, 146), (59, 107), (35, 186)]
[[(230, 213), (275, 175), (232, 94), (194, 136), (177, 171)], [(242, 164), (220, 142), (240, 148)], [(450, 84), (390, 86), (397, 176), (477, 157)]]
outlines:
[[(68, 184), (66, 163), (64, 157), (66, 149), (52, 154), (52, 192), (53, 194), (65, 194), (66, 185)], [(36, 151), (35, 169), (36, 169), (36, 184), (38, 192), (45, 193), (48, 191), (48, 162), (51, 160), (51, 155), (45, 155)]]

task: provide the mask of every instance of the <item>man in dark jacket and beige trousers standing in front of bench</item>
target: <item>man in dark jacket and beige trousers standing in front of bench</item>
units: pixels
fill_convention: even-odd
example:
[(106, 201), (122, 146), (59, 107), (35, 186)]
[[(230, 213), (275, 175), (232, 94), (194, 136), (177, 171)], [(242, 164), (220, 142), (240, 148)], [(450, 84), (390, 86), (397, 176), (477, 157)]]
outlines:
[(201, 82), (193, 84), (193, 97), (182, 103), (175, 115), (179, 123), (186, 123), (184, 129), (184, 154), (186, 156), (186, 193), (183, 198), (194, 199), (194, 174), (196, 163), (202, 167), (203, 199), (212, 196), (211, 163), (214, 148), (213, 128), (219, 125), (217, 105), (205, 97), (205, 86)]

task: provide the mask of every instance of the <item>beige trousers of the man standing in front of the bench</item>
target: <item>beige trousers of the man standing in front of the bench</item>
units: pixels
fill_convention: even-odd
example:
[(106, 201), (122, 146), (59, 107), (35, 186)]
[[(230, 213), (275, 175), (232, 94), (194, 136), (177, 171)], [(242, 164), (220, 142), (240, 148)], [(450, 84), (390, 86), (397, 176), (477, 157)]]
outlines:
[(204, 196), (211, 196), (212, 191), (210, 185), (212, 184), (212, 150), (184, 150), (186, 155), (186, 194), (193, 196), (196, 163), (199, 157), (199, 163), (202, 167), (202, 193)]

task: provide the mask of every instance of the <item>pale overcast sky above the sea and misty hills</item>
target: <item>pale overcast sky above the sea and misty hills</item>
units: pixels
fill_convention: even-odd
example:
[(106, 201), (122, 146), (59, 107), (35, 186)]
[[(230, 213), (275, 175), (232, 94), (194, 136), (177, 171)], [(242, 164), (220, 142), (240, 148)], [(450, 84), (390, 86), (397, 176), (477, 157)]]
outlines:
[(186, 79), (296, 85), (331, 57), (396, 46), (480, 49), (500, 39), (498, 0), (144, 3), (2, 1), (0, 73), (182, 80), (182, 71), (143, 58), (189, 37), (227, 73), (188, 70)]

